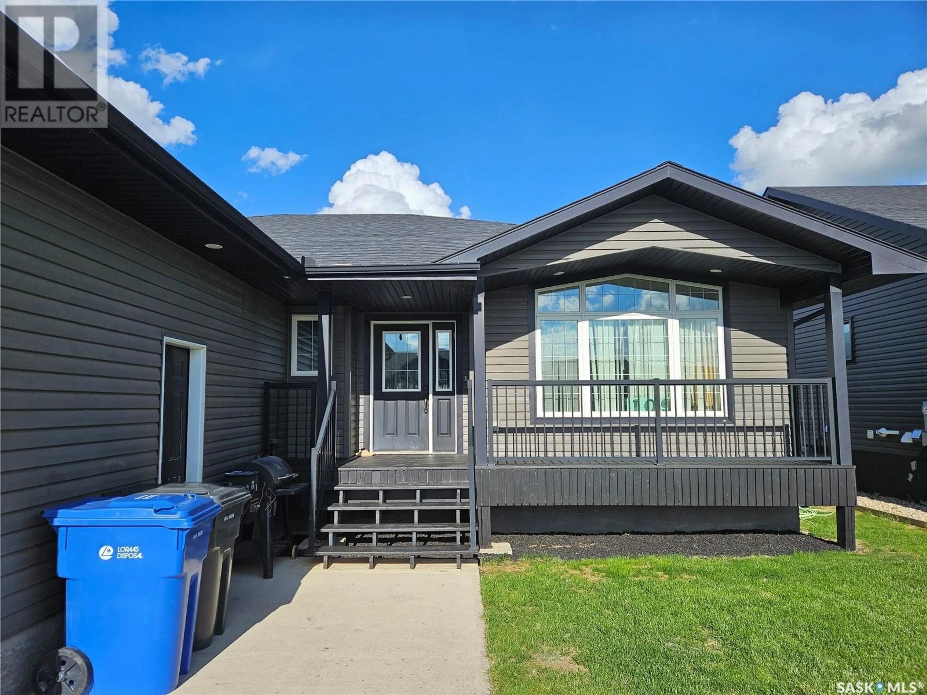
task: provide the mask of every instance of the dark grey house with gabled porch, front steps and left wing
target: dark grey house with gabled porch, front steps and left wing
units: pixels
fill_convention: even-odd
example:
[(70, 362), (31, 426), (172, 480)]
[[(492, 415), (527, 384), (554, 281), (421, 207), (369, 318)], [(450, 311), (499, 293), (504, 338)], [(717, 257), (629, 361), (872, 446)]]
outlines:
[(671, 162), (518, 225), (252, 221), (115, 109), (0, 158), (4, 692), (60, 639), (42, 510), (264, 453), (325, 562), (810, 504), (854, 548), (843, 296), (927, 273), (891, 240)]

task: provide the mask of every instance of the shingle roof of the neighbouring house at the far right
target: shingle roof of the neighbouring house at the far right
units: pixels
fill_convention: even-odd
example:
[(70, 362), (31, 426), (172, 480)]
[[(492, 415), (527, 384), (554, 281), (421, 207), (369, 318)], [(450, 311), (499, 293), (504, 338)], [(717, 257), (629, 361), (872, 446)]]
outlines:
[(927, 185), (774, 188), (927, 229)]

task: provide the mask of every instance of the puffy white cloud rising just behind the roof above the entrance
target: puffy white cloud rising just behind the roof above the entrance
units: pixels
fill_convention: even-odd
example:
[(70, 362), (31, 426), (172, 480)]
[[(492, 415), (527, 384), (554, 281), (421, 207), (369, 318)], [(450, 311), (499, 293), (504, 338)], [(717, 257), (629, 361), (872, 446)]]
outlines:
[(420, 175), (414, 164), (400, 162), (389, 152), (367, 155), (351, 164), (341, 180), (332, 185), (328, 192), (331, 205), (319, 211), (470, 217), (470, 208), (465, 205), (455, 216), (451, 212), (451, 196), (440, 183), (423, 183)]

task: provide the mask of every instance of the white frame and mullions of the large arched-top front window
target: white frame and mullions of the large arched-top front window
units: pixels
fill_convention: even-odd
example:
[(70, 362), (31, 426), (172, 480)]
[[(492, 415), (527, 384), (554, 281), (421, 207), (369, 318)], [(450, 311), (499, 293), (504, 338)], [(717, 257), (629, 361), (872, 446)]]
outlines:
[[(607, 283), (619, 279), (632, 278), (640, 280), (653, 280), (669, 285), (669, 310), (667, 311), (587, 311), (586, 310), (586, 287), (590, 284)], [(676, 309), (676, 286), (683, 284), (691, 287), (704, 287), (717, 291), (717, 310), (677, 310)], [(542, 293), (552, 290), (578, 287), (579, 289), (579, 311), (539, 311), (538, 301)], [(668, 358), (669, 358), (669, 379), (681, 379), (682, 362), (681, 347), (679, 345), (679, 320), (680, 319), (716, 319), (717, 320), (717, 362), (718, 362), (718, 379), (724, 379), (727, 375), (727, 360), (724, 340), (724, 295), (723, 288), (713, 284), (692, 283), (685, 280), (670, 280), (668, 278), (653, 277), (649, 275), (638, 275), (636, 273), (621, 273), (607, 277), (593, 278), (574, 283), (555, 284), (547, 287), (539, 287), (534, 292), (534, 312), (535, 312), (535, 329), (534, 329), (534, 372), (536, 379), (543, 379), (541, 375), (541, 343), (540, 343), (540, 322), (549, 320), (566, 320), (577, 322), (578, 335), (578, 355), (579, 355), (579, 376), (580, 381), (590, 381), (590, 345), (589, 345), (589, 321), (619, 321), (623, 319), (660, 319), (667, 321), (667, 341), (668, 341)], [(714, 411), (685, 411), (677, 410), (677, 403), (685, 402), (683, 398), (684, 386), (672, 386), (673, 404), (668, 411), (661, 409), (661, 414), (667, 417), (724, 417), (727, 413), (727, 395), (726, 389), (721, 388), (721, 398), (717, 409)], [(540, 417), (599, 417), (603, 413), (591, 410), (590, 386), (580, 386), (579, 405), (580, 410), (576, 412), (561, 411), (544, 411), (543, 386), (538, 387), (537, 402), (538, 415)], [(654, 411), (620, 411), (611, 413), (614, 417), (654, 417)]]

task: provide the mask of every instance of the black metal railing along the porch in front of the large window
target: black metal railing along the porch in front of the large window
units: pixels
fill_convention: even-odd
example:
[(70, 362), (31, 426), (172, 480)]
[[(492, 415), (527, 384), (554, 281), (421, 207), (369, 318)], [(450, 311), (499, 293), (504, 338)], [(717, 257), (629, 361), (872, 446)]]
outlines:
[(496, 381), (489, 463), (833, 462), (830, 379)]

